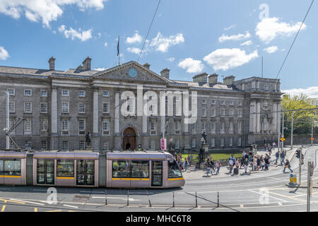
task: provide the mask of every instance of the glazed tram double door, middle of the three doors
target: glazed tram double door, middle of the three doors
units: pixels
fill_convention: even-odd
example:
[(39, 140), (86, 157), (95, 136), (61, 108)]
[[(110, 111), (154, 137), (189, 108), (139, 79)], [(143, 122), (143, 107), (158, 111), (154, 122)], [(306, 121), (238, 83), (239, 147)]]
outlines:
[(76, 185), (95, 184), (95, 160), (76, 160)]

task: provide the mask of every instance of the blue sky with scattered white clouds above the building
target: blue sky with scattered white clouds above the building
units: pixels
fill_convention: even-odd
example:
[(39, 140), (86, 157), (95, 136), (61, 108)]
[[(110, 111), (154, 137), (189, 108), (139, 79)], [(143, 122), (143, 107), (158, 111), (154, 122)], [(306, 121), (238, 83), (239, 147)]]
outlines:
[[(156, 73), (168, 68), (176, 80), (191, 81), (205, 71), (218, 73), (221, 81), (261, 76), (264, 57), (264, 77), (276, 78), (311, 2), (162, 0), (139, 63), (148, 62)], [(157, 5), (158, 0), (0, 0), (0, 65), (47, 69), (53, 56), (56, 69), (66, 70), (91, 57), (92, 69), (107, 69), (118, 63), (118, 35), (121, 62), (137, 61)], [(317, 19), (314, 2), (278, 76), (281, 90), (318, 97)]]

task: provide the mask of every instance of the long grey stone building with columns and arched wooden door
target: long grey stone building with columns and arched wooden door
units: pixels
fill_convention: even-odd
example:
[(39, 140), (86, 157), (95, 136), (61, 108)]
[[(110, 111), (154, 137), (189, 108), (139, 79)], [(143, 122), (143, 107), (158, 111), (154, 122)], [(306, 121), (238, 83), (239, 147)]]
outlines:
[[(163, 132), (167, 149), (171, 144), (176, 151), (199, 150), (204, 131), (210, 150), (277, 141), (282, 94), (278, 79), (235, 81), (228, 76), (220, 83), (218, 75), (200, 73), (193, 81), (175, 81), (169, 69), (158, 74), (149, 64), (130, 61), (93, 71), (90, 61), (88, 57), (77, 69), (66, 71), (55, 70), (53, 57), (48, 69), (0, 66), (0, 90), (9, 93), (10, 125), (21, 121), (11, 132), (21, 149), (84, 150), (88, 131), (94, 151), (134, 150), (139, 144), (160, 150)], [(160, 92), (169, 91), (174, 93), (170, 108), (169, 98), (159, 100)], [(143, 97), (138, 101), (140, 92)], [(189, 106), (178, 95), (184, 92), (189, 93)], [(5, 95), (0, 94), (0, 150), (6, 148)], [(157, 105), (146, 105), (151, 114), (137, 114), (141, 104), (153, 98), (158, 98)], [(184, 123), (184, 107), (190, 112), (196, 108), (194, 123)]]

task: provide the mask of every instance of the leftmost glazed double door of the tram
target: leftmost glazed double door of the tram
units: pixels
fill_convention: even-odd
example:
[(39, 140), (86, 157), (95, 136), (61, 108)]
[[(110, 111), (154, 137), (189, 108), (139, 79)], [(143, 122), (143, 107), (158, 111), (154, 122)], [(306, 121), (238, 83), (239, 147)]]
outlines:
[(37, 160), (37, 184), (54, 184), (54, 160)]

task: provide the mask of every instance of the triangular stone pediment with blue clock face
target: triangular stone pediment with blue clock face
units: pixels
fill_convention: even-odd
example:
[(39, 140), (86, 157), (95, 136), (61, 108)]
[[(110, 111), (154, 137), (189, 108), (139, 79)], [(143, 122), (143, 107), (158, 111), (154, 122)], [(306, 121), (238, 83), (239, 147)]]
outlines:
[(159, 76), (146, 66), (142, 66), (135, 61), (130, 61), (112, 69), (95, 73), (93, 78), (111, 81), (127, 81), (131, 83), (170, 83), (167, 78)]

